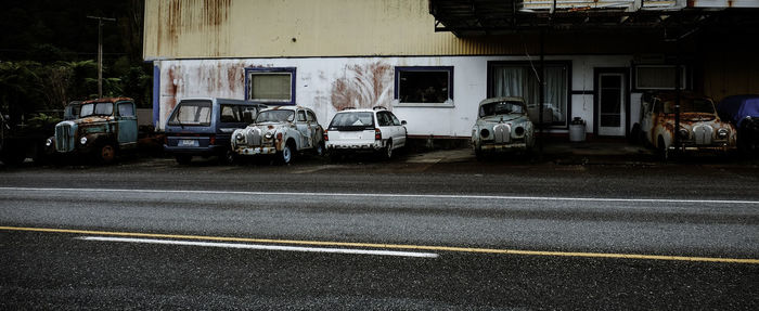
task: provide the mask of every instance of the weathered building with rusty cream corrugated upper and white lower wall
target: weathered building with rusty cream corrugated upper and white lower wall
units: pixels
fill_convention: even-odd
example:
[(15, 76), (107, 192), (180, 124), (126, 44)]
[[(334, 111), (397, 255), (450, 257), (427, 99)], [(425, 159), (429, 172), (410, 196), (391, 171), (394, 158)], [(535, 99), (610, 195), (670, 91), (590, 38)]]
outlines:
[(483, 99), (537, 109), (543, 90), (548, 131), (580, 117), (623, 137), (642, 92), (673, 89), (676, 68), (716, 99), (759, 92), (742, 46), (757, 2), (147, 0), (144, 57), (158, 128), (182, 98), (223, 96), (308, 106), (323, 126), (382, 105), (412, 137), (468, 138)]

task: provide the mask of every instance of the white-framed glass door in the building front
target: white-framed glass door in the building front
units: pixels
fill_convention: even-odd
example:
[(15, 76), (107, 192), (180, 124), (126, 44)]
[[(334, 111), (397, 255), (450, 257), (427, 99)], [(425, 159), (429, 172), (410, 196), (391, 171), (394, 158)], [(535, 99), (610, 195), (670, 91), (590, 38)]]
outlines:
[(625, 74), (599, 74), (599, 135), (623, 137), (627, 126)]

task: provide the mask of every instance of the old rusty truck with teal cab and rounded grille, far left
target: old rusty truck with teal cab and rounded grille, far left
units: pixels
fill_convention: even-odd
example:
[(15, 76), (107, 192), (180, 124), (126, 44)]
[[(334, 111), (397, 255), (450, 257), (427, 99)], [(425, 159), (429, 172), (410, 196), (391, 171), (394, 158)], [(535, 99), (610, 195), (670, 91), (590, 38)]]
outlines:
[(137, 148), (134, 101), (107, 98), (77, 105), (78, 115), (68, 114), (70, 119), (55, 125), (55, 134), (46, 142), (52, 156), (87, 155), (108, 164), (117, 153)]

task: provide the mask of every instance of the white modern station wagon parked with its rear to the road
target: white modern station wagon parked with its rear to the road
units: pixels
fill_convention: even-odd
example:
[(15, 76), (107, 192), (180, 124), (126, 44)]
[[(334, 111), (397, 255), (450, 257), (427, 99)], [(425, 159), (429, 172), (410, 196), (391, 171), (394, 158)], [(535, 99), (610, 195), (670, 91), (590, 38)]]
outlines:
[(324, 131), (326, 150), (332, 159), (357, 152), (381, 153), (391, 158), (393, 152), (406, 146), (406, 121), (385, 107), (344, 109), (335, 114)]

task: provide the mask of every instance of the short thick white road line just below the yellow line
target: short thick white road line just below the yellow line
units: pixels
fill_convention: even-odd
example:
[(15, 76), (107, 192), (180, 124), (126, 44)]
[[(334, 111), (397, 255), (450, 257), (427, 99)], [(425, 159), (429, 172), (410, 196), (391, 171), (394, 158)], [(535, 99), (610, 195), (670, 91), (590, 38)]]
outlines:
[(320, 248), (320, 247), (276, 246), (276, 245), (237, 244), (237, 243), (211, 243), (211, 242), (195, 242), (195, 241), (105, 237), (105, 236), (80, 236), (80, 237), (76, 237), (76, 238), (83, 239), (83, 241), (100, 241), (100, 242), (126, 242), (126, 243), (222, 247), (222, 248), (239, 248), (239, 249), (259, 249), (259, 250), (284, 250), (284, 251), (331, 252), (331, 254), (350, 254), (350, 255), (399, 256), (399, 257), (415, 257), (415, 258), (437, 258), (438, 257), (438, 255), (434, 254), (434, 252), (416, 252), (416, 251), (393, 251), (393, 250), (371, 250), (371, 249), (350, 249), (350, 248)]

